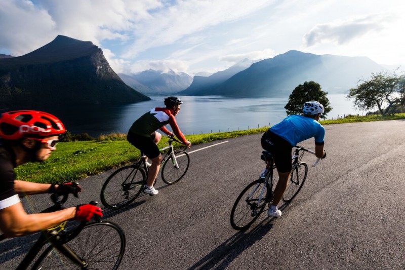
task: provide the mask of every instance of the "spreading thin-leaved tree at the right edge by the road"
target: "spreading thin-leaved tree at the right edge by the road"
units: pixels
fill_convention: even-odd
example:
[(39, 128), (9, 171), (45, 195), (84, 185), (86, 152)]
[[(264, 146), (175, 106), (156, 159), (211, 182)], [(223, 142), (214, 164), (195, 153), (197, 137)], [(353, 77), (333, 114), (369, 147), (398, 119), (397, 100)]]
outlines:
[(398, 75), (395, 71), (372, 73), (368, 81), (359, 80), (357, 88), (350, 89), (347, 98), (354, 98), (358, 109), (377, 107), (384, 116), (392, 105), (405, 103), (405, 75)]

